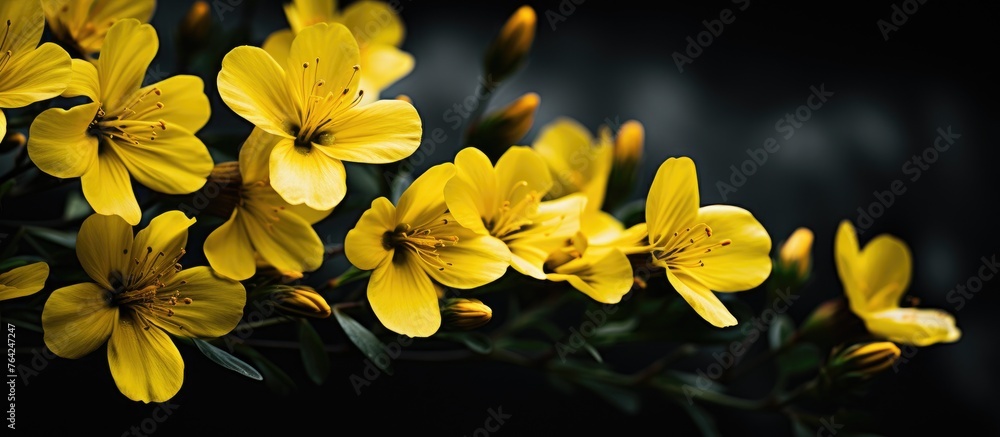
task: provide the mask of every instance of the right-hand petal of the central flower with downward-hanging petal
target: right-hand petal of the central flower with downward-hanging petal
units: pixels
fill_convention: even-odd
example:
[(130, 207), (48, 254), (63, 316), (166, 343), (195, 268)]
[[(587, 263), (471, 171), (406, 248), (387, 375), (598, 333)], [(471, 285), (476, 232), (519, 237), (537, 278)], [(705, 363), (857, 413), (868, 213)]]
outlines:
[[(457, 222), (437, 228), (434, 236), (455, 236), (458, 243), (438, 249), (441, 268), (423, 263), (424, 271), (445, 286), (470, 289), (493, 282), (507, 272), (510, 251), (503, 241), (472, 232)], [(400, 249), (402, 250), (402, 249)]]

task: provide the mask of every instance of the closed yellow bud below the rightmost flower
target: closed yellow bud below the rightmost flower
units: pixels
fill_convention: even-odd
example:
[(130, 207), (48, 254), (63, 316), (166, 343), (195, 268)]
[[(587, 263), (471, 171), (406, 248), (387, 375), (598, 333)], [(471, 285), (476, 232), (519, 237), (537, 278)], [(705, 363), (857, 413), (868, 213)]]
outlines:
[(827, 376), (834, 384), (868, 379), (892, 367), (900, 353), (890, 341), (854, 344), (834, 353)]

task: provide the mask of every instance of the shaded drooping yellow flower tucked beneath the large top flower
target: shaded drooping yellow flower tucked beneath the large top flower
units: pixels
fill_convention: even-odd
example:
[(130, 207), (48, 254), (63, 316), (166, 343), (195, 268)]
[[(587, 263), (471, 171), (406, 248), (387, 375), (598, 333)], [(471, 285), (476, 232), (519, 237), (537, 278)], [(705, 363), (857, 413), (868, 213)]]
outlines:
[(323, 263), (323, 241), (312, 224), (331, 210), (289, 205), (271, 188), (267, 158), (280, 140), (254, 129), (240, 149), (241, 183), (229, 220), (205, 240), (205, 257), (219, 273), (243, 280), (257, 270), (255, 254), (282, 272), (308, 272)]

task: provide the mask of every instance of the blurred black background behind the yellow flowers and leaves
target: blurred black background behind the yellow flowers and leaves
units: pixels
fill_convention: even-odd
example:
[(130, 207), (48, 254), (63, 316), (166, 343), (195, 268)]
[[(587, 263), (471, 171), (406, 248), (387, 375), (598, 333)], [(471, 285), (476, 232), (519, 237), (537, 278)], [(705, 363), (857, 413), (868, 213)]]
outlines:
[[(890, 1), (859, 6), (753, 0), (745, 11), (738, 10), (745, 2), (697, 3), (666, 2), (650, 9), (636, 1), (590, 0), (567, 14), (570, 0), (562, 1), (562, 12), (555, 0), (528, 2), (539, 15), (532, 58), (496, 93), (493, 104), (527, 91), (540, 94), (536, 125), (526, 143), (558, 116), (573, 117), (592, 131), (606, 120), (637, 119), (646, 128), (638, 194), (645, 194), (665, 158), (686, 155), (698, 165), (703, 204), (723, 202), (716, 182), (728, 180), (730, 166), (748, 159), (748, 148), (777, 138), (781, 149), (737, 192), (729, 193), (725, 203), (751, 210), (775, 245), (798, 226), (814, 230), (814, 277), (809, 292), (790, 311), (796, 321), (841, 293), (832, 260), (838, 222), (856, 220), (857, 208), (875, 201), (873, 191), (904, 180), (906, 193), (874, 220), (861, 241), (879, 233), (905, 240), (915, 264), (909, 295), (919, 297), (923, 307), (952, 312), (963, 337), (955, 344), (920, 349), (857, 405), (873, 413), (875, 430), (886, 435), (1000, 432), (994, 395), (998, 356), (995, 340), (989, 340), (1000, 307), (996, 284), (987, 282), (960, 311), (946, 301), (949, 290), (976, 274), (980, 257), (990, 257), (1000, 247), (992, 214), (996, 134), (988, 130), (997, 113), (995, 6), (928, 1), (886, 41), (876, 22), (890, 19)], [(161, 40), (154, 66), (168, 74), (177, 73), (172, 40), (189, 4), (160, 2), (153, 18)], [(520, 4), (401, 2), (407, 27), (403, 49), (415, 56), (416, 68), (383, 96), (409, 95), (425, 133), (440, 127), (449, 136), (418, 168), (454, 156), (457, 132), (443, 114), (473, 92), (483, 49)], [(705, 30), (702, 20), (716, 19), (727, 8), (735, 11), (736, 20), (680, 73), (671, 55), (685, 49), (686, 37)], [(553, 28), (546, 11), (566, 19)], [(246, 1), (222, 18), (216, 16), (218, 29), (251, 23), (252, 44), (286, 27), (277, 1)], [(214, 74), (204, 77), (213, 114), (203, 133), (246, 135), (249, 126), (218, 98)], [(775, 122), (805, 104), (810, 87), (821, 84), (834, 95), (791, 138), (782, 138)], [(903, 164), (933, 144), (939, 127), (948, 126), (961, 138), (919, 180), (910, 181)], [(217, 154), (217, 161), (232, 159), (223, 155)], [(320, 235), (339, 242), (354, 219), (324, 223)], [(334, 276), (345, 267), (342, 262), (308, 279)], [(334, 337), (332, 320), (330, 324), (321, 329), (329, 335), (328, 343), (341, 341)], [(294, 338), (294, 331), (282, 329), (267, 336)], [(40, 339), (26, 335), (18, 346), (33, 341)], [(348, 378), (363, 370), (360, 354), (331, 355), (333, 373), (317, 387), (305, 377), (298, 351), (266, 350), (296, 379), (298, 390), (283, 397), (263, 383), (215, 366), (191, 347), (179, 347), (186, 365), (184, 386), (171, 401), (179, 407), (158, 425), (156, 432), (162, 435), (257, 434), (266, 429), (472, 435), (483, 426), (488, 409), (501, 406), (512, 418), (499, 435), (697, 433), (684, 411), (662, 398), (646, 396), (639, 412), (627, 415), (590, 393), (567, 395), (537, 372), (502, 364), (397, 361), (394, 376), (381, 376), (358, 396)], [(86, 430), (120, 435), (151, 417), (155, 406), (131, 402), (118, 392), (103, 350), (75, 361), (52, 360), (27, 386), (20, 385), (18, 429), (39, 435)], [(616, 350), (606, 358), (628, 368), (648, 354)], [(791, 432), (787, 420), (776, 414), (711, 411), (724, 435)]]

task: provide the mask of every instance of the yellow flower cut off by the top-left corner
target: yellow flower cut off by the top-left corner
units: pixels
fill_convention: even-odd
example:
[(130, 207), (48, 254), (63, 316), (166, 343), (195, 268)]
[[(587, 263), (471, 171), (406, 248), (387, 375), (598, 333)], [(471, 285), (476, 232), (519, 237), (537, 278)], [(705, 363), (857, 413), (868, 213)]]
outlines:
[[(0, 2), (0, 108), (19, 108), (58, 96), (70, 79), (69, 54), (42, 39), (45, 17), (38, 0)], [(7, 117), (0, 111), (0, 138)]]

